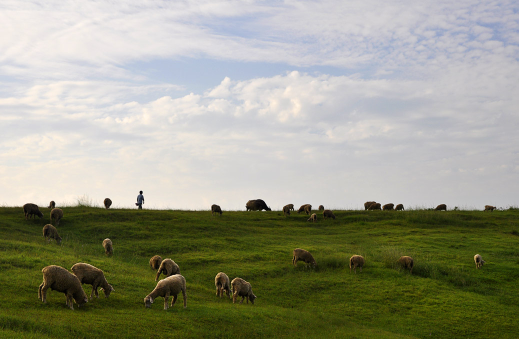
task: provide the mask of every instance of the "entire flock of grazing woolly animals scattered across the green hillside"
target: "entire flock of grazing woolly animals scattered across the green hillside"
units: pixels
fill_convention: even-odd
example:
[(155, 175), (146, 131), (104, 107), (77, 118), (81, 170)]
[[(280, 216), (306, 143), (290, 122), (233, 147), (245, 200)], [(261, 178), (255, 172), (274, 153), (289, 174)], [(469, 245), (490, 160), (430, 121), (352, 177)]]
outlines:
[[(109, 198), (104, 199), (103, 204), (105, 209), (110, 208), (112, 205), (112, 200)], [(266, 210), (270, 211), (271, 209), (267, 206), (265, 201), (262, 199), (249, 200), (247, 202), (247, 211), (261, 211)], [(55, 221), (56, 225), (59, 225), (59, 221), (63, 218), (63, 210), (56, 208), (56, 204), (54, 201), (50, 201), (48, 206), (51, 210), (50, 213), (50, 222), (51, 224), (47, 224), (43, 227), (43, 236), (46, 241), (50, 241), (51, 239), (56, 240), (59, 244), (61, 243), (61, 237), (58, 234), (58, 229), (52, 225), (52, 222)], [(365, 210), (404, 210), (404, 206), (402, 204), (394, 207), (393, 204), (386, 204), (384, 206), (380, 206), (379, 203), (375, 201), (366, 201), (364, 204)], [(484, 211), (493, 211), (496, 209), (495, 206), (486, 205)], [(294, 211), (294, 205), (288, 204), (283, 206), (283, 215), (290, 215), (290, 211)], [(325, 209), (324, 206), (320, 205), (318, 208), (319, 211), (323, 211), (323, 219), (332, 218), (335, 219), (335, 215), (331, 210)], [(434, 210), (447, 210), (445, 204), (438, 205)], [(307, 215), (310, 215), (308, 221), (316, 222), (317, 214), (311, 213), (312, 206), (310, 204), (305, 204), (299, 207), (297, 213), (304, 212)], [(35, 204), (25, 204), (23, 205), (23, 212), (25, 214), (25, 220), (31, 218), (31, 216), (39, 216), (39, 218), (43, 218), (43, 213), (39, 210), (38, 206)], [(222, 209), (218, 205), (211, 206), (211, 215), (215, 213), (219, 213), (222, 215)], [(106, 238), (103, 240), (103, 248), (105, 250), (106, 255), (113, 254), (113, 243), (112, 240)], [(303, 261), (307, 266), (316, 266), (316, 260), (313, 258), (312, 254), (307, 250), (296, 248), (292, 252), (292, 265), (297, 267), (298, 261)], [(480, 254), (474, 255), (474, 262), (476, 264), (476, 268), (479, 269), (483, 266), (485, 261), (482, 259)], [(353, 272), (356, 272), (356, 268), (360, 269), (362, 272), (362, 267), (364, 266), (365, 260), (362, 255), (352, 255), (349, 260), (350, 273), (353, 268)], [(404, 269), (409, 269), (409, 272), (413, 273), (414, 260), (411, 256), (401, 256), (398, 260), (398, 265), (403, 267)], [(186, 294), (186, 280), (180, 274), (180, 267), (173, 260), (167, 258), (163, 259), (159, 255), (154, 255), (149, 260), (149, 266), (153, 269), (157, 270), (155, 281), (157, 282), (157, 286), (155, 289), (146, 295), (144, 298), (144, 305), (149, 308), (152, 306), (154, 300), (157, 297), (164, 298), (164, 309), (168, 309), (168, 299), (169, 296), (172, 295), (173, 299), (171, 300), (171, 307), (175, 304), (177, 300), (177, 296), (182, 292), (184, 299), (184, 308), (187, 307), (187, 294)], [(43, 282), (40, 284), (38, 289), (38, 299), (44, 303), (47, 302), (47, 290), (50, 288), (51, 290), (55, 290), (58, 292), (62, 292), (65, 294), (65, 305), (70, 307), (70, 309), (74, 309), (73, 302), (76, 302), (79, 306), (88, 302), (88, 297), (83, 290), (82, 284), (90, 284), (92, 286), (92, 292), (90, 293), (90, 299), (93, 299), (94, 294), (99, 298), (98, 288), (103, 290), (105, 297), (110, 296), (110, 293), (114, 291), (114, 288), (111, 284), (106, 281), (104, 277), (104, 273), (101, 269), (94, 267), (87, 263), (76, 263), (71, 267), (72, 273), (70, 273), (67, 269), (50, 265), (46, 266), (42, 269), (43, 273)], [(165, 279), (159, 281), (159, 277), (161, 274), (166, 275)], [(238, 297), (241, 297), (240, 304), (243, 300), (247, 300), (254, 304), (254, 300), (256, 299), (256, 295), (252, 292), (251, 284), (241, 278), (234, 278), (229, 282), (229, 277), (220, 272), (216, 274), (214, 278), (214, 284), (216, 287), (216, 295), (220, 298), (223, 297), (224, 293), (230, 299), (230, 295), (233, 295), (233, 303), (236, 303)]]

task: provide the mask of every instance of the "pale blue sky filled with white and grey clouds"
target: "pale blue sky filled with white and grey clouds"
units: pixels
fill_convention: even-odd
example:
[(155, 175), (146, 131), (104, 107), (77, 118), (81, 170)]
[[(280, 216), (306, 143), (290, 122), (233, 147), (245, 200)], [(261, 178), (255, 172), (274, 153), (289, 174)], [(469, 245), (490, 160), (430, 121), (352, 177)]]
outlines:
[(0, 206), (519, 205), (516, 1), (0, 3)]

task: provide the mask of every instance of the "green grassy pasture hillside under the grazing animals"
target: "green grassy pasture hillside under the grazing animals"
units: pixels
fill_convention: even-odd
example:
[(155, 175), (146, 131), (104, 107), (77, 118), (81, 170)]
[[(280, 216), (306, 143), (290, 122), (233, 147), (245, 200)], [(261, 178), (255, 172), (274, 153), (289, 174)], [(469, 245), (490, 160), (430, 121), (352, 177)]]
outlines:
[[(9, 338), (517, 338), (519, 212), (334, 211), (336, 220), (280, 211), (104, 210), (64, 207), (61, 246), (46, 243), (44, 219), (0, 208), (0, 337)], [(316, 211), (317, 212), (317, 211)], [(107, 257), (104, 238), (112, 239)], [(292, 250), (310, 251), (315, 269)], [(486, 264), (475, 268), (473, 256)], [(148, 265), (170, 257), (187, 284), (163, 310), (143, 299), (156, 285)], [(353, 254), (362, 273), (349, 272)], [(413, 274), (395, 267), (415, 259)], [(64, 295), (38, 300), (41, 270), (87, 262), (115, 291), (69, 310)], [(254, 305), (218, 299), (214, 276), (252, 284)], [(162, 276), (165, 277), (165, 276)], [(87, 295), (91, 287), (83, 286)], [(171, 297), (170, 297), (171, 301)]]

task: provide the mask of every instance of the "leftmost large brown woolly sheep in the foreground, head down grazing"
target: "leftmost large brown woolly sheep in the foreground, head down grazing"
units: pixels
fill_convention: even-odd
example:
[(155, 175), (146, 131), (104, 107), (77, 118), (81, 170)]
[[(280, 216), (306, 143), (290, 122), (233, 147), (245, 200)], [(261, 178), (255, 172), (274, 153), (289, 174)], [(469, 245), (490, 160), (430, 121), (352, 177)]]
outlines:
[(81, 287), (79, 279), (61, 266), (50, 265), (42, 269), (43, 282), (38, 288), (38, 299), (47, 303), (47, 290), (65, 294), (66, 306), (74, 309), (72, 300), (79, 306), (88, 303), (87, 294)]

